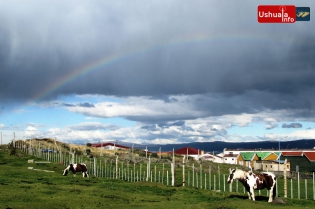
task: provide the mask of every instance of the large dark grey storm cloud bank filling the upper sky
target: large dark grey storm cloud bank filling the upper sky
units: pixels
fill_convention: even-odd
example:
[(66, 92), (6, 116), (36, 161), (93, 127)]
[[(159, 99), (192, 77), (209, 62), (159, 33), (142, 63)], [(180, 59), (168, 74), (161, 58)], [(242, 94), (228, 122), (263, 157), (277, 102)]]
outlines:
[[(34, 98), (80, 67), (117, 54), (116, 62), (44, 99), (104, 94), (172, 102), (168, 95), (204, 94), (193, 104), (207, 110), (205, 116), (266, 108), (314, 116), (307, 114), (315, 105), (311, 21), (258, 24), (259, 2), (251, 1), (242, 2), (246, 13), (235, 9), (239, 3), (210, 1), (56, 1), (49, 9), (36, 1), (19, 8), (9, 2), (0, 4), (2, 101)], [(165, 123), (189, 117), (128, 119)]]

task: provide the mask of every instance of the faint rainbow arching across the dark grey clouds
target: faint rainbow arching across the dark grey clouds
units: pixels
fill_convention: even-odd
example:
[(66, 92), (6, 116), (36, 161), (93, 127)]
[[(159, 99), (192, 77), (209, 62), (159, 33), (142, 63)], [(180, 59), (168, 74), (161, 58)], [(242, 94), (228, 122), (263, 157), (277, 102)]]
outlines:
[[(146, 53), (146, 52), (153, 51), (155, 49), (159, 49), (166, 46), (177, 46), (177, 45), (201, 43), (201, 42), (207, 42), (207, 41), (230, 41), (230, 40), (232, 41), (258, 41), (258, 42), (267, 41), (268, 42), (270, 41), (270, 38), (267, 39), (267, 37), (262, 37), (262, 36), (259, 37), (256, 35), (249, 36), (248, 34), (247, 35), (241, 34), (240, 36), (235, 36), (233, 34), (225, 35), (225, 36), (222, 36), (222, 35), (210, 36), (209, 34), (193, 34), (191, 36), (178, 38), (176, 40), (169, 41), (169, 42), (161, 42), (155, 45), (147, 46), (145, 48), (138, 48), (134, 50), (112, 54), (110, 56), (97, 59), (80, 68), (72, 70), (68, 74), (65, 74), (63, 77), (61, 77), (59, 80), (56, 80), (50, 83), (49, 85), (47, 85), (40, 92), (35, 94), (29, 101), (31, 102), (40, 101), (41, 99), (45, 98), (47, 95), (51, 94), (57, 89), (61, 88), (65, 84), (71, 81), (74, 81), (75, 79), (81, 76), (84, 76), (98, 69), (104, 69), (113, 63), (124, 61), (125, 59), (135, 56), (137, 54)], [(273, 41), (284, 42), (284, 40), (281, 37)]]

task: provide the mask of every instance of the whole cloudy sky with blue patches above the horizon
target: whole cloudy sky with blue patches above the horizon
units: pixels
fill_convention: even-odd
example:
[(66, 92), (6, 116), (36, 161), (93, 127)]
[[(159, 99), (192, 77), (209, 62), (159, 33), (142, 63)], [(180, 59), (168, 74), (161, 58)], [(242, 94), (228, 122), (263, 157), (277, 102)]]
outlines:
[[(311, 20), (258, 23), (277, 4)], [(314, 139), (314, 8), (0, 0), (1, 143)]]

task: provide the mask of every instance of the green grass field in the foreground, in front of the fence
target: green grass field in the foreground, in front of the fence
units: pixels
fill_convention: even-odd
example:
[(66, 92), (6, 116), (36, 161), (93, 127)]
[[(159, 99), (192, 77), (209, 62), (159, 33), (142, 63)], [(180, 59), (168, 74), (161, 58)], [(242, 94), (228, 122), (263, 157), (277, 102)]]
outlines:
[[(82, 178), (79, 174), (76, 177), (73, 175), (65, 177), (62, 176), (64, 165), (28, 164), (28, 159), (34, 157), (23, 153), (12, 156), (8, 151), (0, 151), (0, 208), (315, 207), (315, 201), (303, 199), (278, 198), (275, 203), (267, 203), (265, 191), (261, 196), (256, 192), (257, 201), (253, 202), (242, 192), (216, 192), (192, 187), (172, 187), (154, 182), (126, 182), (92, 175), (90, 178)], [(239, 190), (243, 191), (241, 185)], [(288, 195), (290, 196), (289, 192)]]

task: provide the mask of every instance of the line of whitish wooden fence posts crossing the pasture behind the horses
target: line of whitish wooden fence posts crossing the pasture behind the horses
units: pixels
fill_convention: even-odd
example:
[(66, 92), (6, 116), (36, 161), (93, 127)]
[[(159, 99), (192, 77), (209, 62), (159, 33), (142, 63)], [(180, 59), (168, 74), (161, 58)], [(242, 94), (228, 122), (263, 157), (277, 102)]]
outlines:
[[(153, 170), (150, 167), (150, 157), (149, 162), (147, 163), (147, 171), (143, 171), (142, 173), (142, 163), (137, 164), (133, 163), (133, 166), (130, 166), (130, 163), (127, 162), (124, 164), (124, 162), (121, 162), (121, 164), (118, 164), (118, 156), (115, 156), (116, 164), (113, 164), (114, 159), (104, 159), (102, 162), (102, 159), (97, 159), (96, 157), (93, 158), (93, 162), (91, 158), (84, 159), (84, 156), (78, 156), (74, 153), (66, 153), (66, 152), (42, 152), (42, 149), (27, 149), (26, 146), (17, 146), (17, 148), (22, 149), (25, 153), (28, 153), (29, 155), (33, 155), (38, 158), (42, 158), (47, 161), (56, 162), (63, 164), (64, 166), (69, 165), (70, 163), (79, 163), (84, 162), (85, 164), (89, 165), (89, 173), (93, 174), (96, 177), (105, 177), (105, 178), (113, 178), (113, 179), (121, 179), (124, 181), (130, 181), (130, 182), (138, 182), (138, 181), (150, 181), (150, 182), (158, 182), (161, 184), (165, 184), (169, 186), (169, 171), (171, 171), (171, 164), (162, 164), (158, 168), (157, 165), (154, 165)], [(232, 183), (229, 186), (229, 190), (227, 190), (226, 186), (226, 174), (220, 173), (220, 166), (218, 166), (218, 173), (212, 174), (212, 167), (209, 166), (208, 169), (204, 168), (202, 164), (200, 164), (199, 169), (195, 167), (194, 163), (191, 164), (190, 168), (188, 163), (186, 162), (186, 168), (185, 168), (185, 174), (184, 180), (182, 182), (187, 182), (184, 186), (186, 187), (196, 187), (200, 189), (208, 189), (208, 190), (216, 190), (216, 191), (230, 191), (230, 192), (236, 192), (239, 193), (239, 184), (238, 181), (235, 181), (235, 183)], [(166, 167), (167, 165), (167, 167)], [(164, 175), (166, 170), (166, 176)], [(208, 172), (206, 172), (208, 170)], [(208, 174), (207, 174), (208, 173)], [(142, 175), (143, 174), (143, 175)], [(191, 175), (192, 174), (192, 175)], [(305, 198), (305, 199), (313, 199), (315, 200), (315, 175), (314, 172), (312, 173), (312, 181), (308, 181), (307, 179), (304, 180), (304, 186), (301, 185), (301, 175), (298, 172), (296, 180), (293, 180), (293, 178), (290, 179), (290, 186), (286, 185), (287, 187), (290, 187), (290, 198), (296, 197), (297, 195), (298, 199)], [(177, 178), (178, 180), (179, 178)], [(176, 182), (177, 184), (179, 182)], [(223, 183), (223, 187), (222, 187)], [(203, 186), (204, 185), (204, 186)], [(243, 186), (242, 186), (243, 187)], [(277, 195), (278, 196), (284, 196), (285, 192), (283, 191), (283, 187), (285, 187), (282, 184), (282, 179), (278, 178), (277, 181)], [(294, 189), (296, 188), (297, 189)], [(304, 187), (304, 188), (302, 188)], [(289, 188), (287, 188), (289, 189)], [(304, 189), (304, 190), (303, 190)], [(245, 193), (245, 188), (243, 187), (243, 193)], [(259, 190), (259, 195), (261, 194), (261, 191)], [(311, 198), (309, 198), (309, 195), (311, 195)], [(267, 191), (268, 195), (268, 191)]]

